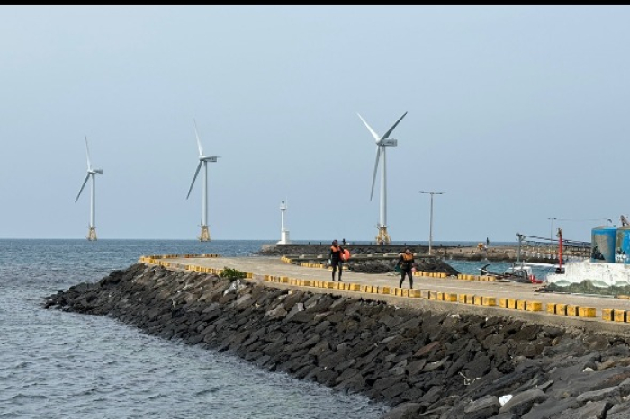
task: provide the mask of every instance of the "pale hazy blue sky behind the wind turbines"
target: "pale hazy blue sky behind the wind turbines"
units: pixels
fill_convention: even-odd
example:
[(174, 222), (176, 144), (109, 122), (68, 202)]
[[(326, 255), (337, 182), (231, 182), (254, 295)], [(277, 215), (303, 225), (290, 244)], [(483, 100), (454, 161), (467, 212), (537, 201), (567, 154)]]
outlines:
[[(630, 213), (628, 6), (0, 6), (0, 238), (590, 241)], [(383, 163), (383, 162), (381, 162)], [(619, 181), (621, 179), (621, 181)], [(431, 211), (430, 194), (434, 195)], [(609, 221), (607, 221), (609, 219)]]

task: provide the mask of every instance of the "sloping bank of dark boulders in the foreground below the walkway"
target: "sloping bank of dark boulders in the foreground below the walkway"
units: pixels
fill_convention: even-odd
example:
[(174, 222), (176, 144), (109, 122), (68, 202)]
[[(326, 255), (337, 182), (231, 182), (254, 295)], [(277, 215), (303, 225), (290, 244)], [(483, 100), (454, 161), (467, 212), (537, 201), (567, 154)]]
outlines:
[(271, 284), (138, 263), (42, 305), (364, 394), (390, 419), (628, 417), (625, 337)]

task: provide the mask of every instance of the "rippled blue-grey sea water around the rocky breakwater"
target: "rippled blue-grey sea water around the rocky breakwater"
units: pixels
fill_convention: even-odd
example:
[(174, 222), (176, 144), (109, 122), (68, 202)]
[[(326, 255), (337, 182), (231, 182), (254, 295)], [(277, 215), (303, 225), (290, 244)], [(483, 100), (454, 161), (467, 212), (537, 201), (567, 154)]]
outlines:
[[(367, 397), (165, 340), (106, 316), (42, 307), (149, 254), (254, 256), (262, 240), (0, 239), (0, 419), (370, 419)], [(447, 261), (462, 273), (482, 264)], [(506, 264), (507, 266), (507, 264)]]

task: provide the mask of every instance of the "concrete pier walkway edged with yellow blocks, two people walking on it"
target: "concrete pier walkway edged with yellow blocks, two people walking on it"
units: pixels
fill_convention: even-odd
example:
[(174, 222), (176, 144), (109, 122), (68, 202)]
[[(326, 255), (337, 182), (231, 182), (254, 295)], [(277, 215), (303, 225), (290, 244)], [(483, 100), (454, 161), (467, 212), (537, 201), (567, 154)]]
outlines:
[[(216, 256), (216, 255), (214, 255)], [(225, 268), (247, 272), (247, 281), (268, 286), (300, 288), (364, 299), (383, 300), (399, 307), (511, 316), (524, 321), (630, 336), (630, 300), (602, 296), (541, 292), (544, 286), (507, 281), (466, 281), (452, 277), (416, 276), (398, 288), (399, 276), (344, 270), (343, 282), (332, 282), (329, 269), (302, 267), (279, 257), (207, 257), (207, 255), (145, 256), (174, 270), (207, 272)], [(626, 319), (627, 314), (627, 319)]]

